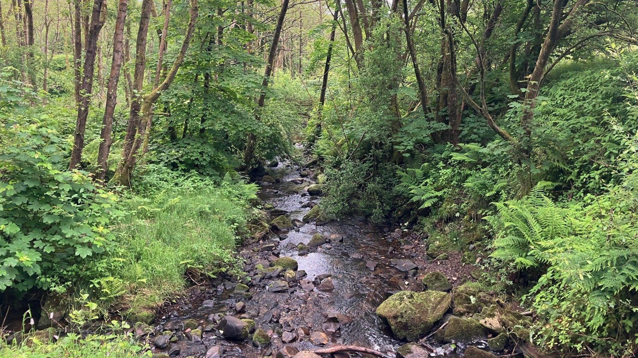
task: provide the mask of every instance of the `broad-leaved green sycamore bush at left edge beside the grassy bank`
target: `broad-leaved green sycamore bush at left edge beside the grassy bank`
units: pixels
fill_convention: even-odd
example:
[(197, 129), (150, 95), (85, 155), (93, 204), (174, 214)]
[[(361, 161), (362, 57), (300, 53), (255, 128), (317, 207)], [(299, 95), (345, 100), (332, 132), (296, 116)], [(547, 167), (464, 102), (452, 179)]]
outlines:
[(63, 140), (37, 125), (0, 128), (0, 290), (63, 292), (112, 250), (115, 196), (66, 171)]

